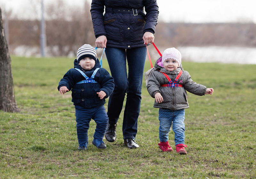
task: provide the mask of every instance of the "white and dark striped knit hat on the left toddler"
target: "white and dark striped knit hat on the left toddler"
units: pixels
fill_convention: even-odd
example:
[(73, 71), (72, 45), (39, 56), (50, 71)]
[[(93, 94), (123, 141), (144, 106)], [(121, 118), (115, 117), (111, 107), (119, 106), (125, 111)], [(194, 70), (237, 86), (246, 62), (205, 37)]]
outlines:
[(77, 63), (85, 57), (93, 58), (96, 62), (97, 60), (97, 53), (96, 50), (89, 44), (84, 44), (80, 47), (77, 51)]

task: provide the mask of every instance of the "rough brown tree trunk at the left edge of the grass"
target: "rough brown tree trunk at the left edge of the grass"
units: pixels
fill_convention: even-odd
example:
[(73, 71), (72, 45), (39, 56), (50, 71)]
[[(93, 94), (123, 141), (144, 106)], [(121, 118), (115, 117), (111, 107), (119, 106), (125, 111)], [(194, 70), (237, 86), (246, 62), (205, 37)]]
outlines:
[(0, 8), (0, 110), (4, 112), (19, 112), (14, 97), (11, 58), (8, 44), (4, 36), (2, 11)]

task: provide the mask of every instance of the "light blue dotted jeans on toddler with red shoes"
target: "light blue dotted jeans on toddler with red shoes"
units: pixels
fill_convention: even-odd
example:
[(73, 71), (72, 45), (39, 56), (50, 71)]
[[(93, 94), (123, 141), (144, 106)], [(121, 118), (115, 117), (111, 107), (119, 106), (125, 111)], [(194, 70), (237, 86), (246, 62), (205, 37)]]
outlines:
[(174, 142), (177, 144), (185, 144), (185, 109), (170, 110), (165, 108), (159, 109), (159, 139), (160, 142), (168, 141), (169, 132), (174, 132)]

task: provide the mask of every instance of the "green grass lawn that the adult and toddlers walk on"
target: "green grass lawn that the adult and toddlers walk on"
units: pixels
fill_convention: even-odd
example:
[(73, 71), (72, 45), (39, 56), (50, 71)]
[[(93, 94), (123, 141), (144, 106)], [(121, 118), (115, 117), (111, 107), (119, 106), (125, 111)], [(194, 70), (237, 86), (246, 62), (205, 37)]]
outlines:
[[(256, 178), (256, 66), (182, 65), (195, 82), (214, 88), (212, 96), (188, 93), (185, 156), (158, 148), (158, 109), (145, 83), (136, 139), (140, 148), (124, 146), (122, 112), (115, 143), (104, 140), (106, 150), (92, 145), (96, 124), (91, 121), (89, 150), (77, 151), (71, 93), (61, 96), (57, 90), (73, 59), (12, 57), (21, 112), (0, 111), (0, 178)], [(109, 71), (105, 59), (103, 67)], [(169, 142), (175, 148), (173, 132)]]

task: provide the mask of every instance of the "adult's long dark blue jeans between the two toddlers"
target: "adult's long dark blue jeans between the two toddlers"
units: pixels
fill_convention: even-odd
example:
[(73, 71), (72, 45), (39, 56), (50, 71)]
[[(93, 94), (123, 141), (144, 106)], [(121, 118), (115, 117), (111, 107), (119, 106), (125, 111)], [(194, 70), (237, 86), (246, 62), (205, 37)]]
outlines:
[(147, 55), (146, 46), (132, 49), (107, 47), (105, 53), (115, 82), (114, 91), (108, 100), (107, 114), (109, 123), (117, 123), (123, 108), (125, 93), (127, 93), (124, 108), (123, 136), (124, 139), (135, 139), (140, 113), (141, 86)]

